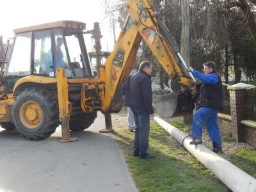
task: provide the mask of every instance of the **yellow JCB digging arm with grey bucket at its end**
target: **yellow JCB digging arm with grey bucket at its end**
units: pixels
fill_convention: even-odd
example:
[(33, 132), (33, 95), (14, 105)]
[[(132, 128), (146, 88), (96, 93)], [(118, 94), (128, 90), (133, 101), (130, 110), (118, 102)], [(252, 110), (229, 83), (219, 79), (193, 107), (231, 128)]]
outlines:
[[(105, 63), (106, 92), (104, 102), (102, 102), (102, 111), (116, 112), (122, 108), (121, 88), (131, 72), (142, 39), (166, 73), (185, 87), (180, 93), (153, 95), (156, 107), (159, 106), (159, 110), (162, 111), (160, 115), (178, 116), (184, 114), (182, 113), (184, 111), (190, 111), (196, 97), (196, 81), (193, 75), (186, 70), (186, 62), (180, 55), (179, 47), (166, 28), (161, 15), (157, 13), (149, 0), (128, 0), (127, 10), (129, 12), (127, 20), (118, 36), (113, 52)], [(129, 20), (132, 26), (127, 29)], [(170, 107), (166, 108), (166, 104)], [(162, 110), (163, 106), (165, 109)]]

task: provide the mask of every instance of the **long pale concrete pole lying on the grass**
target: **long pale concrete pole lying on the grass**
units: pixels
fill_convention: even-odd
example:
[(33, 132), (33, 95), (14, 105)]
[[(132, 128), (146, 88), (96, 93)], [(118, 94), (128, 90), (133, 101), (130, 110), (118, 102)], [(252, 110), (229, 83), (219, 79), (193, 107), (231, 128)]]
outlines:
[(179, 141), (193, 156), (216, 175), (229, 189), (234, 192), (256, 192), (256, 179), (240, 170), (234, 164), (228, 162), (218, 154), (212, 152), (202, 144), (189, 145), (192, 140), (184, 132), (168, 124), (158, 116), (154, 116), (157, 124)]

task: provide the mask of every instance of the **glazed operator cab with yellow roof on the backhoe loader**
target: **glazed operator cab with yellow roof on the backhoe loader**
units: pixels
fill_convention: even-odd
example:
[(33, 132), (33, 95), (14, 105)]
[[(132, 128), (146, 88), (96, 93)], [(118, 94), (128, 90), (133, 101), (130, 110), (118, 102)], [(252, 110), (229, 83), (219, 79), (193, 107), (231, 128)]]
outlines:
[(93, 78), (92, 65), (84, 43), (86, 24), (63, 20), (15, 29), (10, 60), (4, 72), (8, 93), (22, 77), (56, 77), (64, 68), (68, 79)]

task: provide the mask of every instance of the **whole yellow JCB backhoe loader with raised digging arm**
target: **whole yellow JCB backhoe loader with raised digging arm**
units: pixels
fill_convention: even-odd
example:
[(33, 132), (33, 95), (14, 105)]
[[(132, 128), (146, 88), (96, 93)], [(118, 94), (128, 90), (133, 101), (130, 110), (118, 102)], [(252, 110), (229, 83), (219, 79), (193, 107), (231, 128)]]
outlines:
[[(97, 111), (105, 115), (120, 111), (122, 84), (142, 39), (170, 78), (183, 86), (178, 93), (154, 95), (156, 108), (163, 116), (191, 113), (196, 81), (161, 15), (149, 0), (128, 0), (127, 10), (127, 20), (105, 63), (100, 62), (98, 23), (90, 31), (73, 20), (15, 29), (8, 62), (1, 58), (1, 127), (15, 129), (29, 140), (42, 140), (61, 124), (62, 138), (69, 141), (69, 130), (90, 127)], [(88, 33), (95, 39), (94, 72), (84, 42)]]

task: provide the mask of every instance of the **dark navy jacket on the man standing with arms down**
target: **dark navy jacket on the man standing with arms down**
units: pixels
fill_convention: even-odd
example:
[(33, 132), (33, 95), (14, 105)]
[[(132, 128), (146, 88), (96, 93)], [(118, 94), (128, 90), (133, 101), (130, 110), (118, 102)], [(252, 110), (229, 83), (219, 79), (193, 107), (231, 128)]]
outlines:
[(122, 96), (125, 106), (141, 109), (148, 114), (154, 113), (150, 78), (143, 70), (128, 77), (122, 86)]

